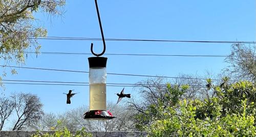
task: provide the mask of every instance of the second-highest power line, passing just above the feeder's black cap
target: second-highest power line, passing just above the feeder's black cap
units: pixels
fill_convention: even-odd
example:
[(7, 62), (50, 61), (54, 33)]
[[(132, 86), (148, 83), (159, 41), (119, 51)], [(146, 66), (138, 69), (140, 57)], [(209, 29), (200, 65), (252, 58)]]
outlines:
[[(92, 55), (92, 53), (67, 53), (67, 52), (24, 52), (26, 54), (53, 54), (53, 55)], [(229, 55), (168, 55), (168, 54), (115, 54), (115, 53), (105, 53), (104, 55), (114, 55), (114, 56), (176, 56), (176, 57), (238, 57)], [(248, 58), (252, 56), (246, 56)]]

